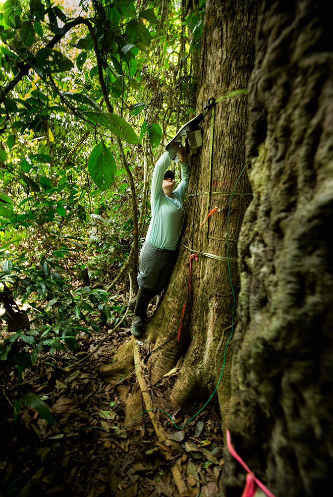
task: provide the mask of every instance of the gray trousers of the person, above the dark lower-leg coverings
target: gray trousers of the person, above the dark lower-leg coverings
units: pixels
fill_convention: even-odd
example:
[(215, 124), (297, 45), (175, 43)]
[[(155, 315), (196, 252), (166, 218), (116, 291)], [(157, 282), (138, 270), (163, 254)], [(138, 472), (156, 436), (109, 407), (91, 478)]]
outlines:
[(138, 285), (157, 295), (167, 288), (176, 260), (176, 250), (157, 248), (144, 243), (140, 251)]

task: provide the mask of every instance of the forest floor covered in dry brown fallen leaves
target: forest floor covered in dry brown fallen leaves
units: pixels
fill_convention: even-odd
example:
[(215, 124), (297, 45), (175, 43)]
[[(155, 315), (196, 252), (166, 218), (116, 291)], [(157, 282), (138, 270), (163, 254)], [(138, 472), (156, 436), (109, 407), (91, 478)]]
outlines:
[[(129, 329), (118, 329), (88, 360), (71, 367), (106, 333), (104, 327), (98, 335), (80, 337), (75, 357), (63, 352), (44, 357), (26, 372), (19, 391), (14, 375), (0, 370), (0, 497), (219, 496), (223, 436), (214, 406), (182, 430), (166, 414), (156, 413), (165, 442), (159, 441), (147, 414), (124, 429), (121, 389), (104, 382), (97, 370), (119, 345), (133, 339)], [(159, 384), (157, 395), (166, 411), (173, 381), (171, 374)], [(121, 381), (126, 391), (135, 384), (135, 373)], [(48, 405), (53, 426), (25, 404), (15, 424), (12, 405), (28, 392)], [(176, 414), (181, 424), (189, 418)]]

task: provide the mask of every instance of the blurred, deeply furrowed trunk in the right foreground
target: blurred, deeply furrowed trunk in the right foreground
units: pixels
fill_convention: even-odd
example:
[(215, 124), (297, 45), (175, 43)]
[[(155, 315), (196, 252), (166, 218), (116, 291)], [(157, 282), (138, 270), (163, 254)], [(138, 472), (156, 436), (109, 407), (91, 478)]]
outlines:
[[(228, 425), (234, 447), (276, 497), (331, 487), (332, 59), (323, 3), (263, 3), (249, 85), (253, 201), (239, 241)], [(240, 496), (244, 483), (226, 450), (225, 495)]]

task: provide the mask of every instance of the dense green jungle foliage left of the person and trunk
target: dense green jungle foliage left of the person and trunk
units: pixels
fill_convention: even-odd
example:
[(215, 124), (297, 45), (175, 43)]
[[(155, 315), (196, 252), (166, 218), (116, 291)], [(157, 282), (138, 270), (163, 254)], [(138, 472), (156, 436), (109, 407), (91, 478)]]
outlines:
[(204, 2), (68, 3), (0, 9), (0, 360), (18, 382), (124, 319), (153, 165), (195, 103)]

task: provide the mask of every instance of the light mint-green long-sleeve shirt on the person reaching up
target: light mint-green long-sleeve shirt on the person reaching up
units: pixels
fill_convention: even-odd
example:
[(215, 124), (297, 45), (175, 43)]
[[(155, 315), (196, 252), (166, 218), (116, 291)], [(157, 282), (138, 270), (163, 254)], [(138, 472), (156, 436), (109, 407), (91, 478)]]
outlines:
[(157, 161), (152, 179), (151, 207), (152, 220), (150, 222), (146, 241), (158, 248), (175, 250), (181, 231), (183, 220), (182, 201), (188, 188), (188, 162), (181, 164), (181, 181), (169, 198), (163, 191), (162, 184), (165, 171), (175, 156), (176, 147), (171, 147)]

